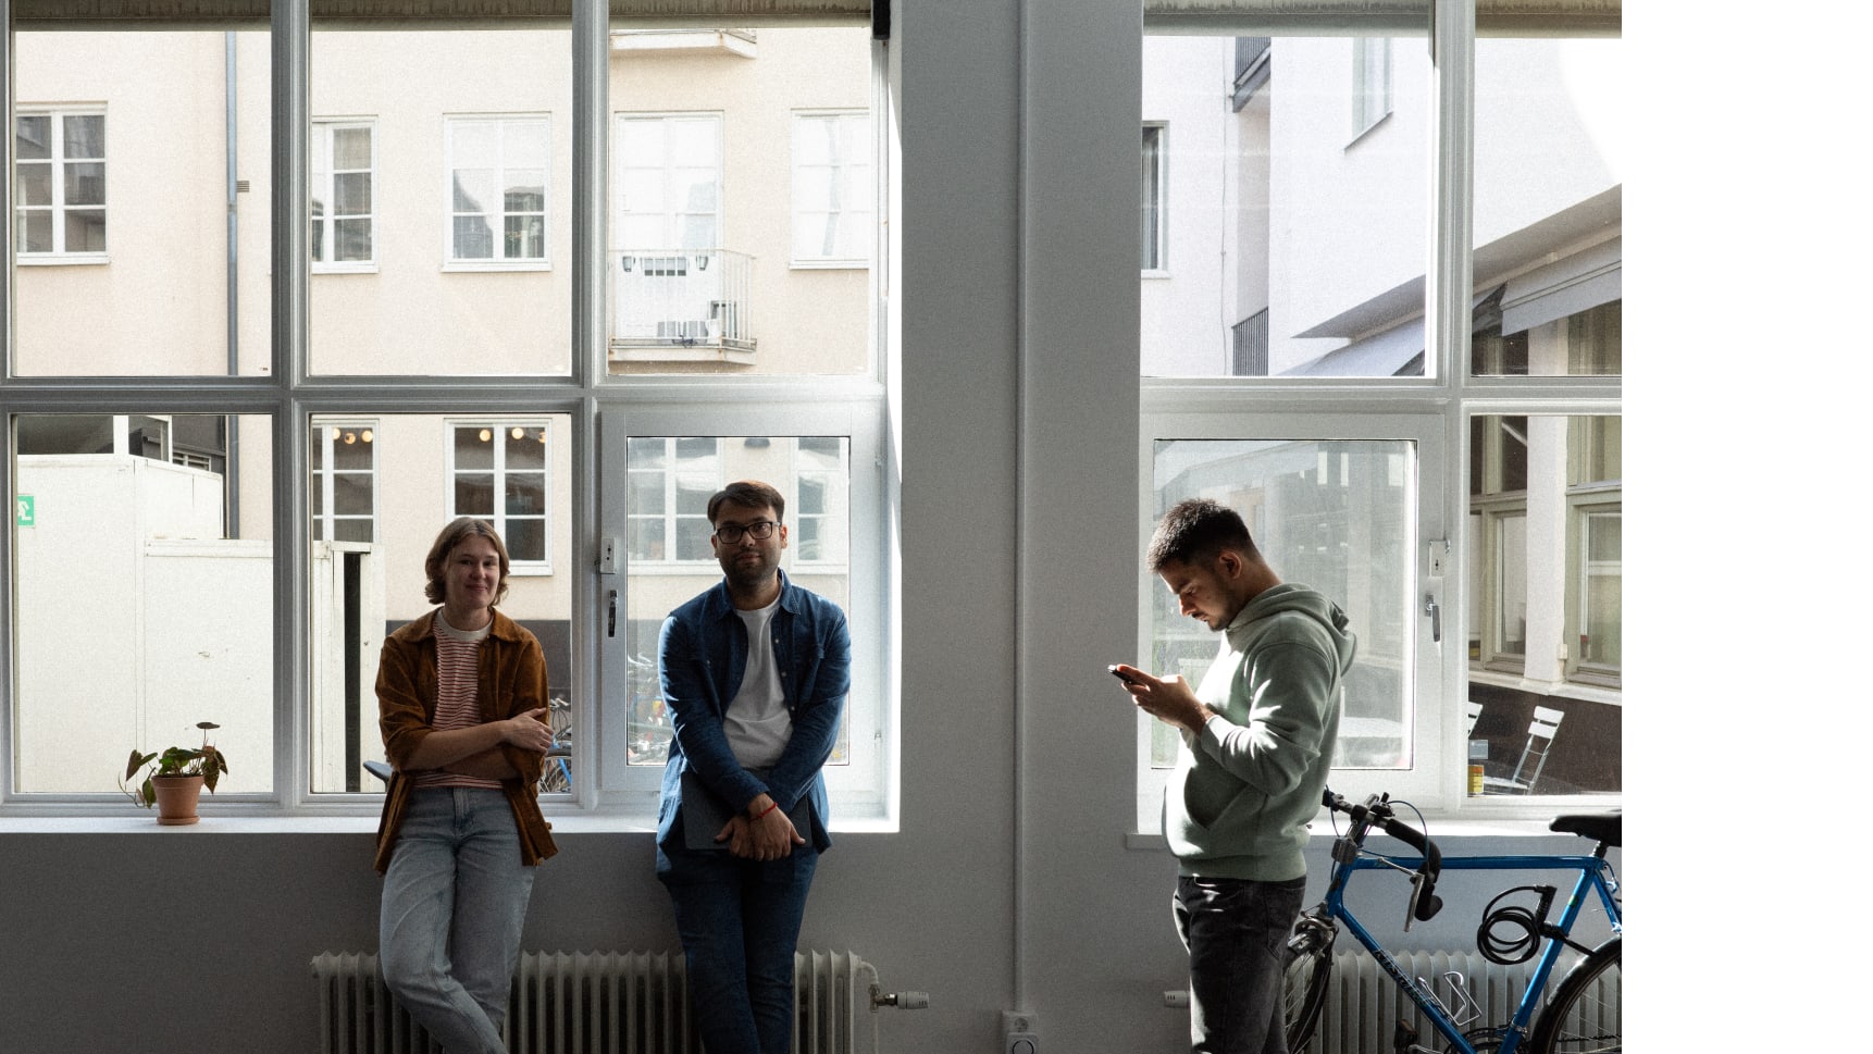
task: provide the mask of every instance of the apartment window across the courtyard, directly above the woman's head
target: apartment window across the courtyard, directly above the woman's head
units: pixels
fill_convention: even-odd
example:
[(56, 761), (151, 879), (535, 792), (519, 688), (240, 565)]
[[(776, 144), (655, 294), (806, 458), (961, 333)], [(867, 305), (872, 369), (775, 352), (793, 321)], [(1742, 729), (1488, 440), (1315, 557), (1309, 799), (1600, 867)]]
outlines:
[(500, 532), (513, 575), (549, 575), (543, 419), (494, 417), (450, 425), (448, 517), (478, 517)]

